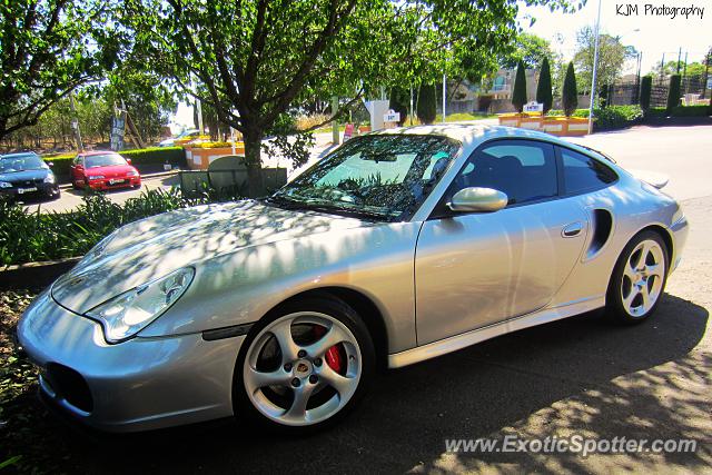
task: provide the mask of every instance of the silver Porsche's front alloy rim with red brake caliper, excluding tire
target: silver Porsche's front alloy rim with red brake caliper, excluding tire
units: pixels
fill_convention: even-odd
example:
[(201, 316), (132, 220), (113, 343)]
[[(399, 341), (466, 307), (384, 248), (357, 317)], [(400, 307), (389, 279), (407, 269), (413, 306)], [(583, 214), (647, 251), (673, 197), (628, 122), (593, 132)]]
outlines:
[(362, 354), (354, 334), (329, 315), (299, 311), (266, 326), (248, 348), (243, 382), (255, 408), (287, 426), (338, 413), (358, 388)]

